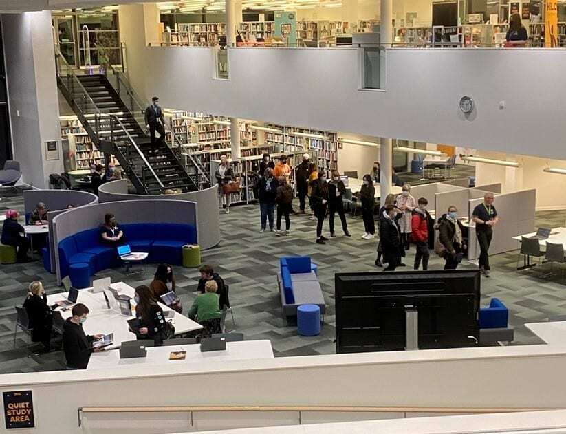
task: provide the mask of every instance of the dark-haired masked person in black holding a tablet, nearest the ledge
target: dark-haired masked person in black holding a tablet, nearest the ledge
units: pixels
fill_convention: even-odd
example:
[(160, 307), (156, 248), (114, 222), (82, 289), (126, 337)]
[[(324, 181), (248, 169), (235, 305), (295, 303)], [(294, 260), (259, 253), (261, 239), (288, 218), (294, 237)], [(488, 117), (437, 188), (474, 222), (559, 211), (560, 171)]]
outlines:
[(72, 316), (63, 323), (63, 349), (67, 359), (67, 367), (70, 369), (87, 369), (90, 355), (93, 352), (104, 351), (104, 348), (92, 348), (96, 339), (104, 337), (104, 334), (87, 335), (83, 330), (83, 324), (87, 321), (89, 308), (83, 303), (77, 303), (71, 311)]

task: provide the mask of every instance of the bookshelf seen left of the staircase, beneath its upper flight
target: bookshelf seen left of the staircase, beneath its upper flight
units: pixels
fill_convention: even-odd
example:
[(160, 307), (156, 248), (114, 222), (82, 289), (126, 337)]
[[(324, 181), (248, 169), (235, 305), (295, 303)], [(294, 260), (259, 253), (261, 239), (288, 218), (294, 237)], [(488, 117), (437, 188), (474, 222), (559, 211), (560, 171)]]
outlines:
[[(76, 116), (61, 116), (59, 122), (65, 151), (65, 171), (90, 169), (93, 163), (104, 166), (104, 153), (96, 149), (96, 145)], [(120, 166), (113, 155), (111, 162), (116, 167)]]

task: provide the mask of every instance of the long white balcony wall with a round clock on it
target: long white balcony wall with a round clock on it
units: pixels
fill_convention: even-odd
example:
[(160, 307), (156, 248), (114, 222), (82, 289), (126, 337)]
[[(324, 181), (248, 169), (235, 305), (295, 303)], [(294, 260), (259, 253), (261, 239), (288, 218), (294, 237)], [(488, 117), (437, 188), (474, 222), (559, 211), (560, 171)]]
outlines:
[[(566, 157), (560, 115), (566, 87), (555, 85), (566, 70), (564, 50), (400, 49), (387, 57), (387, 91), (358, 89), (358, 51), (349, 48), (232, 49), (230, 80), (215, 80), (213, 50), (152, 47), (143, 50), (145, 68), (136, 72), (166, 107)], [(459, 111), (464, 95), (476, 105), (468, 118)]]

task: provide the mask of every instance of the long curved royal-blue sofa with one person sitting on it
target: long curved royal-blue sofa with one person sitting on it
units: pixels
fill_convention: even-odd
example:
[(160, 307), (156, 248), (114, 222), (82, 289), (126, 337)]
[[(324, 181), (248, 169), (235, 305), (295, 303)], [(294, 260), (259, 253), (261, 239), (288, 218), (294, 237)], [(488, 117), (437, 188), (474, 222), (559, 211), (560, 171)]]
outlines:
[[(148, 252), (148, 262), (182, 265), (184, 244), (197, 244), (197, 228), (189, 224), (131, 223), (122, 224), (126, 243), (132, 252)], [(87, 263), (90, 273), (121, 265), (116, 248), (100, 241), (100, 228), (83, 230), (59, 242), (61, 277), (69, 275), (72, 263)]]

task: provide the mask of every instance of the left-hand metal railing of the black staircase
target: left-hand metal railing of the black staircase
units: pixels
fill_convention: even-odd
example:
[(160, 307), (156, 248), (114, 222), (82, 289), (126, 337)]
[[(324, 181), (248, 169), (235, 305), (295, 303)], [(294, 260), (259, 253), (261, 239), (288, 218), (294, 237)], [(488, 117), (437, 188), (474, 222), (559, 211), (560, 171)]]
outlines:
[[(153, 171), (151, 164), (146, 160), (144, 153), (142, 153), (131, 134), (124, 127), (118, 115), (111, 113), (110, 109), (100, 109), (100, 107), (97, 107), (57, 46), (55, 47), (55, 65), (58, 87), (95, 146), (100, 151), (112, 153), (116, 156), (120, 166), (127, 173), (138, 193), (148, 193), (147, 173), (151, 174), (151, 177), (163, 188), (161, 180)], [(89, 120), (94, 122), (89, 122)], [(105, 126), (107, 121), (109, 125), (105, 129), (103, 126)], [(144, 163), (141, 173), (136, 173), (135, 167), (132, 164), (133, 158), (138, 156)]]

